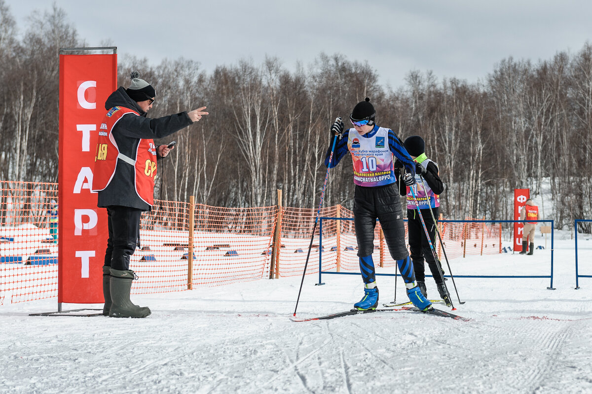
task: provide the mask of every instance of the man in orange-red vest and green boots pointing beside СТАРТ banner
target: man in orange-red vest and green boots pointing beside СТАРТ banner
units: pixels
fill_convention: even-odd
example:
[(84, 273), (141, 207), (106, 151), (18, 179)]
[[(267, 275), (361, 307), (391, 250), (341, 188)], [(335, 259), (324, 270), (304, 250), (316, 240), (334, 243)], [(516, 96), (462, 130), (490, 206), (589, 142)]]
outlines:
[(103, 266), (103, 315), (144, 318), (150, 308), (130, 301), (130, 256), (140, 239), (140, 215), (150, 211), (154, 200), (156, 159), (165, 157), (172, 145), (155, 146), (153, 138), (173, 134), (199, 121), (205, 106), (162, 118), (147, 118), (156, 91), (131, 73), (130, 87), (120, 86), (105, 102), (99, 128), (92, 189), (98, 192), (98, 207), (107, 208), (109, 238)]

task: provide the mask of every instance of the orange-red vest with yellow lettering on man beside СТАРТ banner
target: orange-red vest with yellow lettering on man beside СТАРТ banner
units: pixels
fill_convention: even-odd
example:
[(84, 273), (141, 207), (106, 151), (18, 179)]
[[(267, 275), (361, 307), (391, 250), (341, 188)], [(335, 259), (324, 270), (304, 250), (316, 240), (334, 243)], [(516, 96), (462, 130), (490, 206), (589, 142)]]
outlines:
[(101, 123), (99, 138), (96, 143), (92, 190), (98, 192), (107, 188), (115, 176), (118, 165), (132, 165), (135, 168), (134, 185), (136, 194), (146, 204), (152, 206), (154, 204), (154, 178), (156, 176), (156, 146), (154, 140), (152, 138), (141, 138), (136, 151), (136, 159), (133, 159), (120, 153), (112, 134), (113, 128), (121, 117), (130, 112), (139, 116), (136, 111), (129, 108), (114, 106), (107, 112)]

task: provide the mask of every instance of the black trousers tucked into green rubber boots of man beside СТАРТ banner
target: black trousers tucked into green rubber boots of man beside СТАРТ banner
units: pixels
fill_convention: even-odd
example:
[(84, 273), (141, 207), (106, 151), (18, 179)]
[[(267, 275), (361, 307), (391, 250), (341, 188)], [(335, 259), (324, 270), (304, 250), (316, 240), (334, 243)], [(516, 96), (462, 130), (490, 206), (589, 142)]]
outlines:
[(105, 263), (112, 269), (130, 269), (130, 256), (136, 251), (140, 238), (140, 215), (142, 211), (128, 206), (107, 207), (109, 239), (105, 250)]

